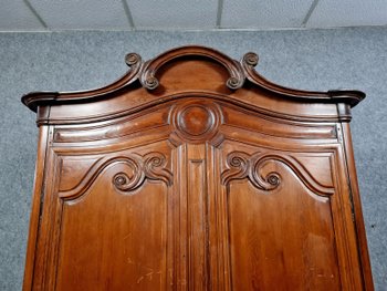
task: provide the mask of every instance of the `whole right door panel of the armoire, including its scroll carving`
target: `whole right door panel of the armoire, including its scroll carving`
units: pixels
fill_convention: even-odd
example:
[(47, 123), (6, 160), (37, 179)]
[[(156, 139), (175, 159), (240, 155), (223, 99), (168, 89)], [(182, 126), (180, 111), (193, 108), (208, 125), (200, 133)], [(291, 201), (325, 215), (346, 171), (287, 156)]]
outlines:
[(232, 290), (341, 290), (331, 204), (334, 159), (326, 150), (224, 143), (221, 179)]

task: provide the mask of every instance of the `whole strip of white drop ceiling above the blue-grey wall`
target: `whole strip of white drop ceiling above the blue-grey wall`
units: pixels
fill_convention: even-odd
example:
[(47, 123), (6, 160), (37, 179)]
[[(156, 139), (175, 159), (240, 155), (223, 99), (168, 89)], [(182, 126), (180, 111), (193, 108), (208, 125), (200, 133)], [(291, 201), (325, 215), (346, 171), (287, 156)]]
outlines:
[[(0, 0), (0, 31), (387, 25), (387, 0)], [(219, 23), (220, 22), (220, 23)]]

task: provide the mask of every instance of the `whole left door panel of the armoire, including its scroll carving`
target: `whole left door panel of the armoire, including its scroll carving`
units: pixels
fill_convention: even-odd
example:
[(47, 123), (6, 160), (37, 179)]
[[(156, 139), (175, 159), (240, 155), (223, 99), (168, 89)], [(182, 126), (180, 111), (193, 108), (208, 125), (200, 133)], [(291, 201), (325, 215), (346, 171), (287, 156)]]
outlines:
[(38, 246), (45, 254), (36, 260), (34, 287), (168, 290), (175, 246), (169, 144), (65, 150), (51, 154), (54, 175)]

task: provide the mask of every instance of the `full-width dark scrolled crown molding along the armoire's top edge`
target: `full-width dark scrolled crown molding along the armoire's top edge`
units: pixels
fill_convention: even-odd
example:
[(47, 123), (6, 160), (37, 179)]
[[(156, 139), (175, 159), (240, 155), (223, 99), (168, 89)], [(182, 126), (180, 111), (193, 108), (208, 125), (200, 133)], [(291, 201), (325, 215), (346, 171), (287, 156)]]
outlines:
[(259, 58), (255, 53), (247, 53), (241, 62), (237, 62), (217, 50), (200, 45), (187, 45), (167, 51), (145, 63), (138, 54), (127, 54), (125, 61), (130, 70), (107, 86), (77, 92), (32, 92), (22, 97), (22, 103), (34, 112), (38, 111), (39, 106), (87, 103), (111, 97), (113, 93), (133, 84), (135, 81), (139, 81), (148, 90), (154, 90), (159, 83), (156, 77), (157, 71), (166, 63), (184, 56), (202, 56), (220, 63), (230, 73), (226, 85), (231, 90), (242, 87), (244, 81), (249, 80), (269, 92), (306, 103), (344, 103), (353, 107), (365, 97), (363, 92), (355, 90), (317, 92), (284, 87), (265, 80), (257, 73), (254, 66), (258, 64)]

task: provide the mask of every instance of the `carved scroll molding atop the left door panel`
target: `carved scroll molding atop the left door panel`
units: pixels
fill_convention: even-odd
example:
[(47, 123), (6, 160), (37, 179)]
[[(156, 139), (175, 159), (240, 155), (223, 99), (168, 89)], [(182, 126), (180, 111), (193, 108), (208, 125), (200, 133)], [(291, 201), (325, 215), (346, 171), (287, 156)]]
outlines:
[(81, 197), (94, 184), (104, 169), (117, 164), (124, 164), (130, 169), (130, 172), (118, 172), (113, 176), (112, 184), (119, 191), (133, 191), (140, 187), (146, 178), (161, 180), (167, 186), (172, 185), (172, 174), (166, 168), (166, 156), (158, 152), (151, 152), (145, 156), (132, 154), (129, 156), (117, 156), (101, 160), (91, 167), (88, 173), (75, 187), (60, 191), (59, 197), (64, 199)]

